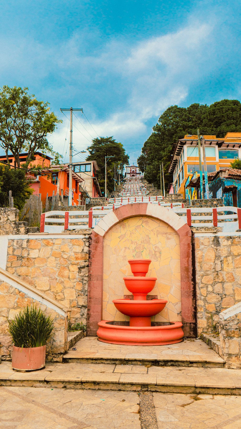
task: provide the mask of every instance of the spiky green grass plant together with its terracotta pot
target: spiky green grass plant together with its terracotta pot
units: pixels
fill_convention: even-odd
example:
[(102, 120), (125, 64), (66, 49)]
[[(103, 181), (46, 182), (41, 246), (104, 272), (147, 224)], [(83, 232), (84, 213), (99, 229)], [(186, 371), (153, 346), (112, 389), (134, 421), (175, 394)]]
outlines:
[(36, 306), (27, 306), (8, 320), (13, 341), (12, 368), (25, 371), (45, 366), (46, 344), (54, 329), (53, 320)]

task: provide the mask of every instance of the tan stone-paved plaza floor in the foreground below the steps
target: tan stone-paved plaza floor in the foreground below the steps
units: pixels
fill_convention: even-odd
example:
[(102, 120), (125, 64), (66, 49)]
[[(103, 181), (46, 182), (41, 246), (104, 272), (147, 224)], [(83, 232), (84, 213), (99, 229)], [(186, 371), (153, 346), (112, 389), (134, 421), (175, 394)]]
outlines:
[(0, 387), (1, 429), (240, 429), (241, 396)]

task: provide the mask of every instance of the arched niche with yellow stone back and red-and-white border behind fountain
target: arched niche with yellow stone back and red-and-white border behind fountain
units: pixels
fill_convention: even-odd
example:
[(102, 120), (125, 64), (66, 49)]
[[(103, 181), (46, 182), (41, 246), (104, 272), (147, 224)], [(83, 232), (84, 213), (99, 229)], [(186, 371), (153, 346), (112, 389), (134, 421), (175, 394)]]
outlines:
[(100, 320), (125, 320), (112, 299), (129, 294), (122, 278), (131, 274), (127, 260), (132, 257), (152, 260), (148, 276), (158, 278), (152, 294), (168, 300), (155, 320), (180, 320), (184, 336), (195, 338), (191, 230), (181, 217), (151, 203), (111, 211), (90, 235), (87, 335), (96, 335)]

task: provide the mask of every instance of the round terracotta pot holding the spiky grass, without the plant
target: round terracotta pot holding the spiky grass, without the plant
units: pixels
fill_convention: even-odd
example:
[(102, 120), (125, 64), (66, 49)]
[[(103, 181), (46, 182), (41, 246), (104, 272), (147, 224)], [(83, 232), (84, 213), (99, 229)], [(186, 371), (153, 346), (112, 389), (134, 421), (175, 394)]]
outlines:
[(12, 347), (12, 368), (25, 371), (41, 369), (45, 366), (46, 346)]

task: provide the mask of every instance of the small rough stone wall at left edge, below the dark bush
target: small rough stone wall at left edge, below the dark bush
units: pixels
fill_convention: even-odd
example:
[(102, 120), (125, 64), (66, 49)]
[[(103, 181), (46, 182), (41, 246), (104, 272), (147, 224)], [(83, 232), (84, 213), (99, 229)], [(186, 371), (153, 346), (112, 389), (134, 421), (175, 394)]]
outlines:
[(8, 234), (25, 234), (27, 222), (19, 222), (18, 208), (0, 207), (0, 236)]

